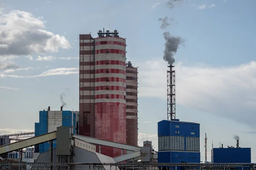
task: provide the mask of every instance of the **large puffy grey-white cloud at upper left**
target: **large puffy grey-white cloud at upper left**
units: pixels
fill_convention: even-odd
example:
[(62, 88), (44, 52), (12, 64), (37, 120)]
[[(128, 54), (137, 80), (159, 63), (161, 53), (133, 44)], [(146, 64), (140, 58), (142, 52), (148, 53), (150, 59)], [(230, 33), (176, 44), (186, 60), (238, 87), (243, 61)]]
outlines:
[(26, 11), (0, 14), (0, 61), (19, 56), (32, 59), (32, 54), (71, 48), (65, 37), (44, 30), (45, 23)]

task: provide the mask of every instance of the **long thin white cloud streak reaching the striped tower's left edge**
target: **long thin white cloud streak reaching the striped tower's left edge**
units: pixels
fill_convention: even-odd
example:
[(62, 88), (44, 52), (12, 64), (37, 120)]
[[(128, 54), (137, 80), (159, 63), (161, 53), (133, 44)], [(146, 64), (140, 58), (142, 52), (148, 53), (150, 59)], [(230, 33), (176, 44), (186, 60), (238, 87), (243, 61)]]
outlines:
[(54, 68), (48, 71), (43, 72), (39, 75), (34, 76), (18, 76), (18, 75), (9, 75), (9, 74), (0, 74), (0, 78), (35, 78), (35, 77), (45, 77), (45, 76), (59, 76), (59, 75), (70, 75), (70, 74), (79, 74), (79, 68)]

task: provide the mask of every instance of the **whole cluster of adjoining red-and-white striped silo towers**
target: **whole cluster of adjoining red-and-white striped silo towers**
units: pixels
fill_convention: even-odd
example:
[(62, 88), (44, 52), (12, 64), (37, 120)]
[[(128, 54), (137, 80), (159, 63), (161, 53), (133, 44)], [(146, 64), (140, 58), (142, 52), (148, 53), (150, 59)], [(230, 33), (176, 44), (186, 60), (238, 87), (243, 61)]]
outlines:
[[(137, 93), (137, 71), (126, 75), (126, 41), (118, 34), (116, 30), (105, 32), (103, 29), (97, 38), (79, 35), (79, 134), (137, 146), (137, 94), (134, 94)], [(128, 90), (133, 93), (129, 94), (129, 101), (136, 96), (128, 105), (126, 80), (131, 84), (130, 89), (136, 86)], [(128, 113), (127, 107), (132, 108)], [(116, 148), (102, 147), (101, 150), (111, 157), (122, 154)]]

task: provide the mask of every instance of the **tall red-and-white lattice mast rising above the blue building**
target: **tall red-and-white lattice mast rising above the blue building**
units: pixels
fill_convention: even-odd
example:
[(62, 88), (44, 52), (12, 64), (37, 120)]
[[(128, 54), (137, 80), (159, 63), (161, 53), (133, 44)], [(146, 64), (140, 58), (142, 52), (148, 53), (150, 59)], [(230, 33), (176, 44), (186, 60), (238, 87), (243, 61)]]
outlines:
[(175, 70), (167, 70), (167, 120), (175, 120)]

